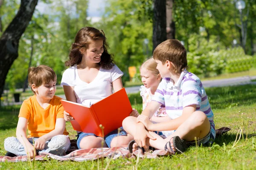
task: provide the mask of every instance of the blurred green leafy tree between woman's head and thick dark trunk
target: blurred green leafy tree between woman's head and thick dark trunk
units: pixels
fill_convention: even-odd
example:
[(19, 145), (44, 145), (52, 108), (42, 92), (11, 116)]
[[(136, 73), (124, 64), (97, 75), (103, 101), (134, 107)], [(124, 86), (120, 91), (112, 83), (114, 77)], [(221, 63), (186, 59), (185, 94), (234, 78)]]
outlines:
[[(128, 66), (140, 65), (151, 55), (152, 23), (143, 15), (147, 7), (140, 0), (108, 0), (99, 28), (105, 31), (116, 65), (128, 75)], [(113, 34), (114, 33), (114, 34)], [(144, 40), (148, 39), (148, 45)], [(128, 76), (123, 77), (128, 80)]]

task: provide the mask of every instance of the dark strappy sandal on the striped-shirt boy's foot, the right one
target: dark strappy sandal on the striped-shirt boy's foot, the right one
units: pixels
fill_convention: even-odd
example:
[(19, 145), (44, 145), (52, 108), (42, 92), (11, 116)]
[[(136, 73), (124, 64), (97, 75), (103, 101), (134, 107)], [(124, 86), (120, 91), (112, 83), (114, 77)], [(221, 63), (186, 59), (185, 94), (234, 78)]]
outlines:
[[(170, 142), (171, 139), (173, 139), (173, 146), (175, 147), (176, 151), (174, 151), (174, 150), (172, 149), (171, 142)], [(167, 142), (166, 145), (164, 146), (164, 150), (170, 151), (170, 152), (172, 152), (172, 153), (183, 153), (183, 152), (186, 151), (187, 146), (186, 146), (186, 141), (185, 141), (185, 140), (180, 139), (179, 136), (174, 136), (174, 137), (172, 137), (171, 139), (170, 139), (170, 141)], [(169, 144), (169, 148), (170, 148), (170, 149), (167, 148), (167, 144)]]

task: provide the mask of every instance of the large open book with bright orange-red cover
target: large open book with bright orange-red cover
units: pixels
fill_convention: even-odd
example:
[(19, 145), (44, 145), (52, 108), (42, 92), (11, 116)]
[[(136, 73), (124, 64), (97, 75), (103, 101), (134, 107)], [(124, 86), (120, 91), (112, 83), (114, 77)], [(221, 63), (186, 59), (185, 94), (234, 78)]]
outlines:
[[(94, 103), (90, 108), (63, 99), (61, 103), (65, 111), (75, 119), (71, 121), (75, 130), (94, 133), (101, 137), (105, 137), (111, 131), (121, 127), (123, 119), (132, 111), (125, 88)], [(104, 134), (99, 125), (104, 127)]]

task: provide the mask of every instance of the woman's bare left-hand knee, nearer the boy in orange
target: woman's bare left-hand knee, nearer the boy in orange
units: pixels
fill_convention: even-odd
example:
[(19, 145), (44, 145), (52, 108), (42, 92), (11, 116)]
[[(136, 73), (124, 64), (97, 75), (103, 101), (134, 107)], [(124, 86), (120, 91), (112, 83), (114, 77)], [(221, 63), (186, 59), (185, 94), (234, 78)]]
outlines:
[(81, 139), (78, 145), (81, 149), (106, 147), (105, 140), (101, 137), (96, 136), (86, 136), (83, 139)]

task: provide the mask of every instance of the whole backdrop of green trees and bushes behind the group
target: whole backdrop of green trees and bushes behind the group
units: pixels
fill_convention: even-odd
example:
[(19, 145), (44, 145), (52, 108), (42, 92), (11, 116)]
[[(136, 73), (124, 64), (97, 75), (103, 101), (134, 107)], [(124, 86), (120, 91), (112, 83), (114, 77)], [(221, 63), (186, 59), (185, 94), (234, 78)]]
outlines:
[[(256, 43), (255, 0), (244, 0), (243, 22), (247, 21), (247, 54), (252, 54)], [(3, 30), (18, 11), (19, 1), (4, 0), (0, 8)], [(6, 78), (6, 88), (22, 88), (31, 55), (31, 66), (49, 65), (61, 81), (64, 62), (77, 31), (84, 26), (103, 29), (114, 54), (116, 65), (124, 72), (123, 83), (129, 81), (128, 67), (139, 67), (152, 55), (152, 20), (154, 0), (106, 0), (105, 14), (99, 23), (87, 18), (88, 0), (43, 0), (51, 6), (51, 13), (35, 14), (19, 43), (19, 57)], [(241, 44), (239, 11), (233, 0), (174, 1), (173, 21), (175, 38), (183, 40), (188, 53), (189, 70), (202, 77), (221, 73), (245, 71), (256, 65), (256, 57), (232, 51), (233, 40)], [(247, 9), (249, 10), (246, 17)], [(0, 32), (0, 35), (2, 32)], [(144, 40), (148, 39), (148, 44)], [(229, 49), (230, 50), (226, 50)], [(232, 53), (232, 57), (229, 57)], [(252, 61), (249, 61), (252, 60)], [(249, 61), (249, 62), (248, 62)], [(139, 72), (134, 81), (140, 81)]]

